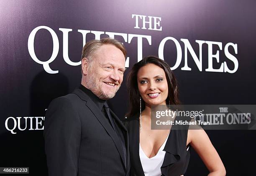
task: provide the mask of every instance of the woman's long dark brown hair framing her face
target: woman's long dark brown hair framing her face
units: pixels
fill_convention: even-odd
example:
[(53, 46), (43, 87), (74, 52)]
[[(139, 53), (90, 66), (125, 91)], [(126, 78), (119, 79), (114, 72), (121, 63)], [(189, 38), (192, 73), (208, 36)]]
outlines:
[[(128, 73), (127, 88), (129, 94), (129, 112), (126, 116), (131, 117), (140, 111), (140, 93), (138, 90), (137, 74), (138, 70), (149, 64), (153, 63), (164, 70), (167, 84), (168, 84), (168, 96), (166, 98), (166, 104), (177, 105), (179, 104), (177, 81), (170, 69), (170, 66), (164, 61), (155, 56), (149, 55), (143, 58), (141, 61), (133, 65), (130, 73)], [(150, 71), (150, 70), (148, 70)], [(141, 98), (141, 111), (145, 109), (145, 102)]]

